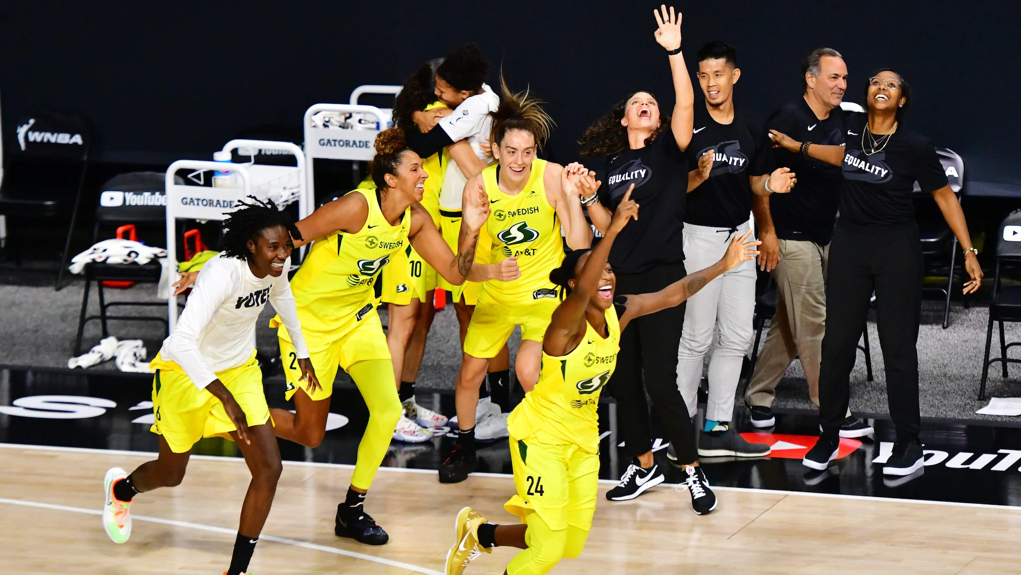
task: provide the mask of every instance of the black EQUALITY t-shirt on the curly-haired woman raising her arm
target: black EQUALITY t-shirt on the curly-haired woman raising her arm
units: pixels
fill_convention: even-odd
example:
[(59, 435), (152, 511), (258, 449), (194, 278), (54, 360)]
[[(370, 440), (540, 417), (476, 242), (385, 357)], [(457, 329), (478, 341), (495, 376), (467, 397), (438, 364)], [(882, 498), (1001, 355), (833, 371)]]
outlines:
[(667, 126), (647, 146), (606, 157), (599, 202), (617, 208), (631, 184), (638, 221), (618, 234), (610, 265), (622, 274), (640, 274), (657, 266), (684, 261), (684, 203), (688, 185), (687, 153)]

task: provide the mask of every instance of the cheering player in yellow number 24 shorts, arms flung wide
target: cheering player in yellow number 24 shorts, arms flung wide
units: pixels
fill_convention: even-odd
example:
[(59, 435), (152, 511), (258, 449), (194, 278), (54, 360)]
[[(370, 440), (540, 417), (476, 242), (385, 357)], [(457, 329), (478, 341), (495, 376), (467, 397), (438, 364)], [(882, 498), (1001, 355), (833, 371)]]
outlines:
[[(760, 242), (735, 236), (723, 258), (661, 291), (614, 297), (617, 278), (606, 262), (628, 220), (638, 218), (631, 189), (617, 207), (606, 236), (593, 250), (572, 251), (549, 279), (564, 288), (542, 339), (542, 375), (508, 420), (510, 461), (518, 494), (504, 509), (523, 525), (495, 525), (471, 508), (460, 511), (446, 575), (460, 575), (480, 552), (521, 549), (507, 575), (548, 573), (563, 558), (581, 554), (592, 527), (599, 473), (599, 393), (617, 364), (621, 330), (640, 316), (679, 305), (706, 284), (753, 259)], [(750, 233), (750, 232), (749, 232)], [(697, 466), (685, 468), (695, 513), (716, 508)]]

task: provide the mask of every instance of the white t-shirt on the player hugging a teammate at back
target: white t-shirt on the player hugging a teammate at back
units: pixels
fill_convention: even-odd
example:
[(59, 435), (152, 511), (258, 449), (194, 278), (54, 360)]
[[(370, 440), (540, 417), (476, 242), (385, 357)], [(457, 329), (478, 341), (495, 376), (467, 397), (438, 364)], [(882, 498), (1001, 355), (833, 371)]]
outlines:
[[(479, 159), (490, 161), (490, 157), (480, 144), (489, 141), (493, 129), (493, 118), (489, 112), (500, 106), (500, 97), (487, 85), (482, 85), (482, 93), (469, 97), (452, 112), (440, 119), (439, 126), (454, 142), (468, 141)], [(447, 163), (440, 189), (440, 209), (460, 211), (460, 196), (468, 179), (457, 167), (456, 161)]]

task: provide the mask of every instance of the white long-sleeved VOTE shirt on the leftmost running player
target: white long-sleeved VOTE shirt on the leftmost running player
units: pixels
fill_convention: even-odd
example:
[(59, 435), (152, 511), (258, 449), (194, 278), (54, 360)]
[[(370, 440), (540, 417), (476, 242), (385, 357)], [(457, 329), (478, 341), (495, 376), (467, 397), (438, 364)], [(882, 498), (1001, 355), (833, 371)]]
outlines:
[(199, 272), (188, 304), (159, 354), (204, 389), (215, 372), (236, 368), (255, 349), (255, 324), (266, 302), (280, 315), (299, 358), (308, 356), (285, 270), (256, 278), (248, 262), (221, 253)]

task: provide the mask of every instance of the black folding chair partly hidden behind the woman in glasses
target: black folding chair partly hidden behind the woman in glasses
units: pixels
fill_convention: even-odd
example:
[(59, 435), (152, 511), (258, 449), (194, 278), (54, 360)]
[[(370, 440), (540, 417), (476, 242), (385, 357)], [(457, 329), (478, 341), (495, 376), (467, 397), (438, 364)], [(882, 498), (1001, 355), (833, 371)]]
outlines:
[[(939, 162), (946, 173), (946, 180), (951, 189), (961, 201), (964, 195), (964, 159), (954, 150), (947, 148), (936, 148), (939, 155)], [(946, 275), (945, 287), (928, 287), (927, 291), (938, 291), (945, 297), (943, 306), (943, 329), (950, 326), (951, 320), (951, 294), (954, 293), (954, 280), (957, 273), (957, 236), (951, 231), (950, 226), (939, 211), (939, 206), (929, 194), (922, 194), (918, 182), (915, 182), (915, 221), (918, 223), (918, 233), (922, 239), (922, 255), (925, 258), (925, 274)], [(946, 262), (946, 251), (950, 248), (950, 263)], [(967, 305), (967, 300), (965, 300)]]

